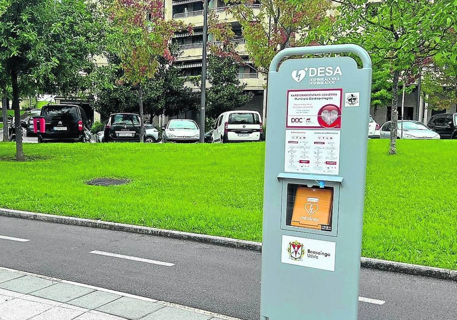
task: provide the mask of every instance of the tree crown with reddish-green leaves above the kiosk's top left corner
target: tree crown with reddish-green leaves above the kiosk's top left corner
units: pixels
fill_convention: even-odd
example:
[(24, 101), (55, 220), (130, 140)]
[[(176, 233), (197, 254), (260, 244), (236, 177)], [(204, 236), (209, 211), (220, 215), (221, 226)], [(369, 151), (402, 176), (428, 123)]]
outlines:
[(277, 52), (309, 45), (307, 34), (322, 23), (330, 9), (329, 0), (262, 0), (260, 8), (251, 0), (225, 2), (242, 27), (250, 59), (265, 74)]

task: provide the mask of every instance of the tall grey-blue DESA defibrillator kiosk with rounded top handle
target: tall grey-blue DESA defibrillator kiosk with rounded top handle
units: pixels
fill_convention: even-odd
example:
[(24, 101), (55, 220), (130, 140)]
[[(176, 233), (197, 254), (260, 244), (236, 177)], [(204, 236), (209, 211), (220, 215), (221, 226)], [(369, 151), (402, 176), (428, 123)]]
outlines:
[(358, 319), (371, 83), (353, 44), (271, 60), (260, 320)]

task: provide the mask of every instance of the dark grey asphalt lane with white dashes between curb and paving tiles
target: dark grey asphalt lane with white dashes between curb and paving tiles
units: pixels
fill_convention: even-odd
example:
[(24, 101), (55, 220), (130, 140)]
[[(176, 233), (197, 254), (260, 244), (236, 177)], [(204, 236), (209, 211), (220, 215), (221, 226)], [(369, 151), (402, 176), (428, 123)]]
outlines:
[[(90, 253), (94, 250), (174, 265)], [(2, 267), (245, 320), (260, 318), (260, 258), (254, 251), (166, 237), (0, 217)], [(457, 319), (457, 282), (362, 269), (360, 295), (386, 301), (360, 302), (360, 320)]]

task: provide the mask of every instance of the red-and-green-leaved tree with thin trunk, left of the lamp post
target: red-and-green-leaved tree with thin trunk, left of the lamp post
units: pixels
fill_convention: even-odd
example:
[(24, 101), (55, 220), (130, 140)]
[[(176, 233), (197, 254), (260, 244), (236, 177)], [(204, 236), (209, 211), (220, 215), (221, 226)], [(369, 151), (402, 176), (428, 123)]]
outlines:
[[(157, 71), (159, 57), (171, 59), (168, 43), (182, 23), (164, 19), (160, 0), (105, 0), (110, 21), (109, 52), (116, 54), (123, 69), (122, 80), (138, 88), (140, 118), (143, 120), (143, 87)], [(144, 135), (141, 121), (140, 136)]]

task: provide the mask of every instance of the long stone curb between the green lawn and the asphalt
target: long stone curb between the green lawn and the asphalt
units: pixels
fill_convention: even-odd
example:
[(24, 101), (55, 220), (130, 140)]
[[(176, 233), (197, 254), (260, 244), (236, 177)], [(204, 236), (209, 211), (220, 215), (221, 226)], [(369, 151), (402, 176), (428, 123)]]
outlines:
[[(135, 226), (131, 224), (106, 222), (101, 220), (91, 220), (84, 218), (57, 216), (45, 213), (27, 212), (11, 209), (0, 209), (0, 216), (13, 217), (22, 219), (41, 220), (46, 222), (55, 222), (63, 224), (71, 224), (83, 227), (95, 227), (109, 230), (134, 232), (141, 234), (149, 234), (159, 237), (170, 237), (182, 240), (191, 240), (201, 243), (212, 243), (221, 246), (262, 251), (262, 243), (255, 241), (239, 240), (228, 237), (209, 236), (199, 233), (182, 232), (174, 230), (166, 230), (152, 227)], [(457, 270), (444, 268), (435, 268), (422, 266), (419, 264), (402, 263), (374, 258), (361, 257), (361, 267), (377, 270), (391, 271), (403, 274), (420, 275), (430, 278), (445, 279), (457, 281)]]

